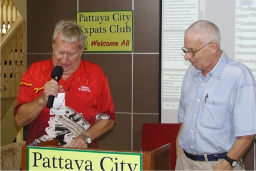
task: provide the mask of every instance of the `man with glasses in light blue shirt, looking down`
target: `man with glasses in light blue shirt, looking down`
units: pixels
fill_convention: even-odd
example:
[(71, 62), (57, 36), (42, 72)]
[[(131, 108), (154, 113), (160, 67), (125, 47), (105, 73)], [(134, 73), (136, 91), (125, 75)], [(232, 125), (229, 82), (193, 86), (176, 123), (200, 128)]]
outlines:
[(241, 157), (256, 135), (256, 85), (248, 67), (220, 49), (207, 20), (184, 36), (191, 65), (181, 86), (176, 170), (244, 170)]

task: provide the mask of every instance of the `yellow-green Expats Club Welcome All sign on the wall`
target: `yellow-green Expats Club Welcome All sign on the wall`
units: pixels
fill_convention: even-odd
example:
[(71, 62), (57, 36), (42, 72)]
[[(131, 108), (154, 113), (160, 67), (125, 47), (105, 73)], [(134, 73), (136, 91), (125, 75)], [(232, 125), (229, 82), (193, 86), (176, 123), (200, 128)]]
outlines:
[(77, 12), (86, 41), (84, 52), (132, 52), (133, 11)]

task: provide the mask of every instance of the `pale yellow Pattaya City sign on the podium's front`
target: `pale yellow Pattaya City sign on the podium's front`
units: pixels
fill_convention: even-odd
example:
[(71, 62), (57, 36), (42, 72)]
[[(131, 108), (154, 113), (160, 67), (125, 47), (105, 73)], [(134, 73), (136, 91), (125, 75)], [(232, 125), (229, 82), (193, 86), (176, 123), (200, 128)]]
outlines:
[(27, 170), (142, 170), (142, 153), (28, 146)]

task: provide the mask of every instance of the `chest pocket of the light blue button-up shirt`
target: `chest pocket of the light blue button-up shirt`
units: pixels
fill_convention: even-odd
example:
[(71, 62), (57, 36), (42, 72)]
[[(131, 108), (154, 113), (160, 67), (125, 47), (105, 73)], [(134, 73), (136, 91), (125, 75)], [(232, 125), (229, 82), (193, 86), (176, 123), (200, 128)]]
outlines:
[(210, 129), (222, 129), (226, 115), (226, 101), (207, 98), (200, 113), (200, 125)]

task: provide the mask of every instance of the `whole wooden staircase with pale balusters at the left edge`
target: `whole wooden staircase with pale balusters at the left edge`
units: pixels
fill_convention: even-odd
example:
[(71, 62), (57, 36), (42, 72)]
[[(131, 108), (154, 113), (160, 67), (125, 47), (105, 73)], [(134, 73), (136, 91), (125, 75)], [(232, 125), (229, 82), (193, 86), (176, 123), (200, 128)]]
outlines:
[(1, 0), (0, 29), (1, 146), (4, 146), (15, 139), (23, 140), (23, 129), (14, 121), (14, 106), (20, 79), (26, 70), (26, 24), (12, 0)]

